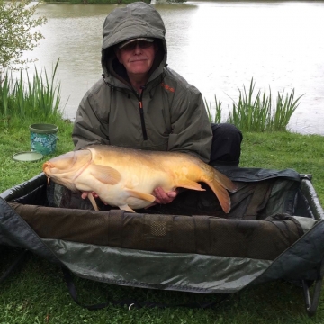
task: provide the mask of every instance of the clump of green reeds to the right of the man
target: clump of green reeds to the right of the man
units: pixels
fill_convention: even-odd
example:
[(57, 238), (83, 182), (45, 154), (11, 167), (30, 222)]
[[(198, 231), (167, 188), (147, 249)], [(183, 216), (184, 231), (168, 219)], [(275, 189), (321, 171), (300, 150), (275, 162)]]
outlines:
[[(244, 131), (284, 131), (287, 130), (288, 123), (297, 109), (300, 99), (294, 98), (294, 89), (290, 94), (277, 94), (275, 109), (271, 89), (268, 93), (266, 88), (261, 92), (255, 92), (255, 82), (251, 79), (249, 88), (243, 85), (243, 90), (238, 89), (238, 103), (233, 100), (227, 122)], [(215, 108), (211, 103), (206, 103), (206, 110), (211, 122), (221, 122), (221, 103), (217, 101), (215, 95)], [(212, 113), (213, 111), (214, 114)]]

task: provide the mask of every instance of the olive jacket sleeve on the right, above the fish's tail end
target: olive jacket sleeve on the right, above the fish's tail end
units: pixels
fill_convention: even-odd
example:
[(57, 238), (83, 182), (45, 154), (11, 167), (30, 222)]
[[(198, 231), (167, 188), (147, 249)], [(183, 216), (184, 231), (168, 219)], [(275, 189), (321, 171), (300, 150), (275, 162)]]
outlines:
[(211, 122), (202, 94), (193, 85), (177, 89), (171, 108), (171, 128), (168, 150), (182, 151), (200, 157), (208, 163), (211, 157)]

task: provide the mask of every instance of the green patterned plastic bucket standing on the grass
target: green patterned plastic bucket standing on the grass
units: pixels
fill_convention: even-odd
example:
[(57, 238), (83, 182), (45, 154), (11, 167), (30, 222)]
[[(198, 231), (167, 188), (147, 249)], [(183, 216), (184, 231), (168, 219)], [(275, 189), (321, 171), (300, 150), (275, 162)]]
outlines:
[(32, 124), (31, 130), (31, 151), (42, 155), (53, 153), (56, 149), (58, 137), (58, 126), (52, 124)]

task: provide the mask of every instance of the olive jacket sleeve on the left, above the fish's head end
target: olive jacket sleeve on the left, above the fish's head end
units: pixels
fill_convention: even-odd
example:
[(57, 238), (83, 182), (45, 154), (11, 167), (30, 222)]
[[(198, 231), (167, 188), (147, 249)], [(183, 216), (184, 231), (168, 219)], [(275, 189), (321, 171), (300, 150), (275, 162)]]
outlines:
[(94, 85), (85, 94), (77, 109), (72, 132), (75, 150), (92, 144), (110, 144), (108, 129), (109, 100), (103, 98), (103, 94), (101, 94), (103, 86), (100, 86), (101, 82), (98, 84)]

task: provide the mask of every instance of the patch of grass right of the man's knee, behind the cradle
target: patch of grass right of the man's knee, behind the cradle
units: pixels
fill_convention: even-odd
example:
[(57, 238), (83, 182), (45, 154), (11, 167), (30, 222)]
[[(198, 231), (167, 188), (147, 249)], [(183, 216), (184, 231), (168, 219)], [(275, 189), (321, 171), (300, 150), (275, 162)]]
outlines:
[(324, 203), (324, 137), (290, 132), (243, 132), (240, 166), (293, 168), (313, 175), (312, 183)]

